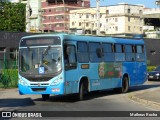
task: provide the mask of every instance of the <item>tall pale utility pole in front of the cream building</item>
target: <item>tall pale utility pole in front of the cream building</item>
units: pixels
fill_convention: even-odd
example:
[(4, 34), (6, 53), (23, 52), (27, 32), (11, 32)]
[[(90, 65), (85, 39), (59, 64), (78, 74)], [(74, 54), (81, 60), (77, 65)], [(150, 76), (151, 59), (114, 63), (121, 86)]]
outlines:
[(100, 8), (99, 8), (100, 0), (96, 0), (97, 4), (97, 35), (100, 35)]

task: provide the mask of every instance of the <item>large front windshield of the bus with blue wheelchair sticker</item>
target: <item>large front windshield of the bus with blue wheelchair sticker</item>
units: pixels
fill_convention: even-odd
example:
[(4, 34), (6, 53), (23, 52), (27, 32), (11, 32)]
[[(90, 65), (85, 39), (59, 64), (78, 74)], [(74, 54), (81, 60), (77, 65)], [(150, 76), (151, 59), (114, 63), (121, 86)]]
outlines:
[(20, 49), (20, 73), (25, 75), (56, 74), (61, 70), (61, 48)]

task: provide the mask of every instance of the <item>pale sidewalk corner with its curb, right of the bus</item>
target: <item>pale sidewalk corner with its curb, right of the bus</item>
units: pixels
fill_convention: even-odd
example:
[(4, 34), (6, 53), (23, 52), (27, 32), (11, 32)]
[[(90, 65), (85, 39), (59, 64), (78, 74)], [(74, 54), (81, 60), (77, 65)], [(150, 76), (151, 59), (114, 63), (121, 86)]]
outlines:
[(131, 100), (160, 110), (160, 87), (129, 93), (128, 97)]

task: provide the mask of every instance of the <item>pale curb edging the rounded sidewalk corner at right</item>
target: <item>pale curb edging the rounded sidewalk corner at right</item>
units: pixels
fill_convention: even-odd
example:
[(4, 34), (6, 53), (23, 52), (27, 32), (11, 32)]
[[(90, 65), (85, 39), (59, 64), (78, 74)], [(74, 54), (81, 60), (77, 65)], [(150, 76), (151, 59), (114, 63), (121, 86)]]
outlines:
[(138, 94), (145, 94), (145, 92), (147, 92), (149, 90), (153, 90), (153, 89), (156, 90), (158, 88), (151, 88), (146, 91), (138, 91), (138, 92), (128, 93), (127, 96), (132, 101), (135, 101), (135, 102), (141, 103), (143, 105), (147, 105), (148, 107), (160, 110), (160, 103), (136, 97), (136, 95), (138, 95)]

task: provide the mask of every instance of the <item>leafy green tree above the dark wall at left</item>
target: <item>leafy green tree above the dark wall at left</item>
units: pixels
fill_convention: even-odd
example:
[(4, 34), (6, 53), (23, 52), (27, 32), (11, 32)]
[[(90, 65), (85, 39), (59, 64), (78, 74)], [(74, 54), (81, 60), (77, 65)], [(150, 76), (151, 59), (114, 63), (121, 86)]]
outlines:
[(24, 32), (26, 5), (23, 3), (0, 2), (0, 30)]

